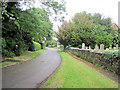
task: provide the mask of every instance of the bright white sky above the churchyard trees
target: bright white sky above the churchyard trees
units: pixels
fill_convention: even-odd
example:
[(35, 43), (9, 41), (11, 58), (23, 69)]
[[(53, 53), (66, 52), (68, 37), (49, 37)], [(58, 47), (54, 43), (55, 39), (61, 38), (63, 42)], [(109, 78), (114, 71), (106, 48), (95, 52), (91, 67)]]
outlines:
[[(86, 11), (87, 13), (100, 13), (104, 17), (110, 17), (113, 22), (118, 24), (118, 2), (120, 0), (65, 0), (68, 16), (71, 19), (75, 13)], [(59, 23), (54, 23), (57, 29)]]

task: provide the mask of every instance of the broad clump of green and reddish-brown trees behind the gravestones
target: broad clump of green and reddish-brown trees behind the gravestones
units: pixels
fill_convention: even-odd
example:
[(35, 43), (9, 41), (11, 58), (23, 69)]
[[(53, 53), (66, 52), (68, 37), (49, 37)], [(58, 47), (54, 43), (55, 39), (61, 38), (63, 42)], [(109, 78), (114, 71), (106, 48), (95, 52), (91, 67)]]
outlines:
[(76, 13), (71, 21), (63, 22), (58, 27), (57, 38), (64, 49), (67, 46), (82, 47), (104, 44), (105, 48), (118, 44), (118, 30), (113, 28), (111, 18), (103, 18), (99, 13)]

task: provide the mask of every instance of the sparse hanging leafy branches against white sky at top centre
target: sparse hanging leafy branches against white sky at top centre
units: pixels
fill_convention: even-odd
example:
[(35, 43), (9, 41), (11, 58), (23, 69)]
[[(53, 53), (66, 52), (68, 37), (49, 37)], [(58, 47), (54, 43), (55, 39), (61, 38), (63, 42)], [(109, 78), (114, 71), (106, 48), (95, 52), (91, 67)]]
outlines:
[(59, 2), (57, 0), (41, 0), (41, 3), (42, 8), (53, 17), (54, 21), (64, 21), (64, 14), (66, 14), (65, 0), (59, 0)]

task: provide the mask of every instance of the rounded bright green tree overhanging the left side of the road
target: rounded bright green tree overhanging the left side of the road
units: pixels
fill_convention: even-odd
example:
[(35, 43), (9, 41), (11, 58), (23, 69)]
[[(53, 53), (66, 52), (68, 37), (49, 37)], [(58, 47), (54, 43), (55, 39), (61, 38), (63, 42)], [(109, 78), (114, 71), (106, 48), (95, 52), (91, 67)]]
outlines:
[(45, 10), (39, 8), (28, 9), (23, 11), (20, 17), (22, 17), (21, 21), (25, 20), (20, 22), (23, 32), (25, 33), (24, 38), (26, 38), (26, 35), (29, 35), (29, 37), (32, 37), (32, 40), (39, 42), (41, 46), (43, 45), (43, 41), (52, 39), (53, 25)]

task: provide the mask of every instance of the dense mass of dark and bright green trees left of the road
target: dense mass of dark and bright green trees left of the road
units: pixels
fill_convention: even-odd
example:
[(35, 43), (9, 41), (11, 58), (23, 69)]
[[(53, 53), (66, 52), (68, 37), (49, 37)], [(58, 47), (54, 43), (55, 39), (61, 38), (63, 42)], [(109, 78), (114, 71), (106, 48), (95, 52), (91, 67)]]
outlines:
[[(62, 4), (55, 1), (41, 3), (54, 10), (62, 11)], [(54, 4), (55, 3), (55, 4)], [(27, 4), (23, 3), (23, 7)], [(52, 5), (50, 5), (52, 4)], [(35, 51), (49, 45), (53, 37), (53, 24), (44, 8), (29, 7), (23, 10), (20, 2), (2, 2), (2, 56), (21, 55), (25, 50)], [(32, 5), (28, 3), (28, 5)], [(59, 7), (61, 5), (61, 7)], [(40, 46), (38, 46), (40, 44)], [(38, 46), (39, 48), (36, 48)]]

